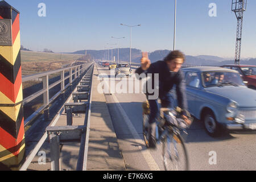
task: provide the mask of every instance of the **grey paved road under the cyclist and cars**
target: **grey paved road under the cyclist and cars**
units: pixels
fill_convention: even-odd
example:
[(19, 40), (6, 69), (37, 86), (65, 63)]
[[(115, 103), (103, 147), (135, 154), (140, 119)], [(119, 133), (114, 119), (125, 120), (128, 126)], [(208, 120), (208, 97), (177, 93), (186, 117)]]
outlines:
[[(108, 75), (104, 77), (110, 77), (107, 68), (97, 67), (99, 73)], [(122, 88), (119, 80), (114, 80), (114, 83), (116, 87)], [(138, 80), (128, 81), (127, 89), (135, 83)], [(105, 97), (126, 168), (163, 170), (160, 149), (147, 150), (144, 147), (141, 124), (141, 104), (146, 100), (144, 94), (112, 93)], [(203, 123), (195, 121), (188, 130), (185, 144), (190, 170), (256, 170), (256, 133), (226, 133), (212, 138), (205, 133)], [(216, 164), (212, 165), (209, 164), (211, 151), (216, 154)]]

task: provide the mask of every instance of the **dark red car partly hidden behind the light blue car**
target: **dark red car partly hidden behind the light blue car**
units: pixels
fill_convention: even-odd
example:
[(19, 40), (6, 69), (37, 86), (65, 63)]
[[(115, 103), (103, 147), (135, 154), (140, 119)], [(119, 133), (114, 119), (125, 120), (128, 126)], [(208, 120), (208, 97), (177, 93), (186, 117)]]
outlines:
[(243, 78), (243, 81), (250, 89), (256, 90), (256, 66), (255, 65), (222, 65), (222, 68), (228, 68), (236, 70), (240, 73)]

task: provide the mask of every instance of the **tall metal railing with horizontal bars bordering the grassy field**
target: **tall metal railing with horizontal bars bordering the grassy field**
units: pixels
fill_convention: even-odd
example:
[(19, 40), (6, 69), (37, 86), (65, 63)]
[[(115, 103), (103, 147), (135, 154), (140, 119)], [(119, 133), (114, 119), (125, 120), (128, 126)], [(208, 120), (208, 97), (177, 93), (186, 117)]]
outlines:
[[(58, 97), (61, 93), (63, 93), (69, 86), (73, 84), (77, 80), (78, 77), (82, 73), (86, 71), (88, 67), (90, 67), (92, 64), (81, 64), (76, 65), (73, 67), (68, 68), (61, 68), (56, 69), (55, 71), (49, 71), (49, 72), (43, 72), (43, 73), (36, 73), (34, 75), (28, 75), (22, 77), (22, 82), (40, 79), (43, 80), (43, 89), (39, 90), (36, 93), (31, 94), (30, 96), (23, 98), (23, 106), (26, 105), (28, 102), (34, 100), (35, 98), (41, 96), (43, 94), (43, 105), (34, 113), (32, 113), (28, 118), (24, 120), (24, 126), (28, 125), (31, 121), (33, 121), (40, 113), (42, 113), (43, 110), (47, 109), (49, 105)], [(65, 71), (69, 71), (68, 76), (64, 76)], [(55, 73), (60, 73), (60, 80), (53, 82), (51, 85), (49, 85), (49, 76), (53, 75)], [(75, 78), (73, 79), (73, 75), (75, 75)], [(65, 80), (69, 78), (69, 83), (65, 85)], [(53, 97), (49, 98), (49, 90), (52, 89), (54, 86), (60, 84), (61, 89), (59, 92), (57, 92)]]

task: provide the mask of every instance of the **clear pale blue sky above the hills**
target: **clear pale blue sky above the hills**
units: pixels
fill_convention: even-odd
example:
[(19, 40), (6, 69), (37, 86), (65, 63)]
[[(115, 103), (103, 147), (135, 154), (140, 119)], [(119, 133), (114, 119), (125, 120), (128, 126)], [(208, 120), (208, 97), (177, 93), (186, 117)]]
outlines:
[[(243, 20), (241, 57), (256, 57), (256, 1), (247, 0)], [(55, 52), (105, 49), (107, 44), (130, 46), (142, 51), (172, 49), (174, 0), (6, 0), (20, 11), (20, 35), (24, 47)], [(234, 57), (237, 19), (232, 0), (177, 0), (176, 49), (186, 55)], [(38, 16), (39, 3), (46, 4), (46, 17)], [(216, 3), (217, 16), (208, 7)], [(116, 46), (115, 46), (116, 48)]]

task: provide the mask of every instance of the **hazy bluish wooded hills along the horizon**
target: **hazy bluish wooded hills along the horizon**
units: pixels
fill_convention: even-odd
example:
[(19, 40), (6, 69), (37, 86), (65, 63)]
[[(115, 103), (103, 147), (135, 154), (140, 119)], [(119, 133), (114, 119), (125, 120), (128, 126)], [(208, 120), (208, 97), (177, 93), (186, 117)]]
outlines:
[[(105, 50), (81, 50), (72, 52), (75, 54), (86, 54), (90, 55), (93, 59), (104, 60), (106, 59), (112, 60), (112, 53), (115, 56), (115, 60), (117, 60), (117, 49), (105, 49)], [(158, 60), (163, 60), (164, 57), (170, 52), (170, 50), (157, 50), (154, 52), (148, 53), (148, 58), (152, 63)], [(133, 63), (140, 63), (142, 51), (140, 49), (131, 49), (131, 61)], [(119, 48), (119, 60), (121, 61), (130, 61), (130, 48)], [(256, 58), (249, 60), (241, 60), (241, 64), (249, 64), (256, 65)], [(209, 56), (209, 55), (199, 55), (199, 56), (185, 56), (185, 64), (190, 65), (224, 65), (224, 64), (234, 64), (234, 60), (226, 60), (223, 57), (218, 56)]]

